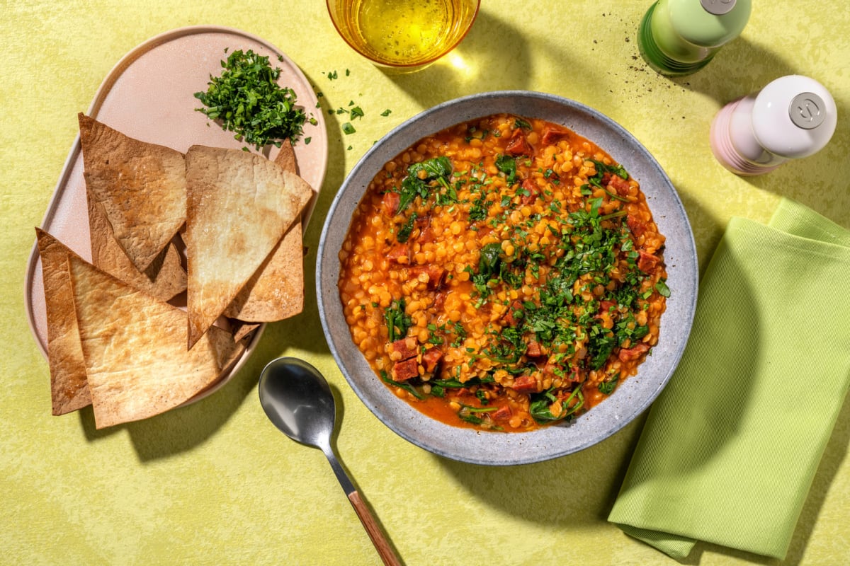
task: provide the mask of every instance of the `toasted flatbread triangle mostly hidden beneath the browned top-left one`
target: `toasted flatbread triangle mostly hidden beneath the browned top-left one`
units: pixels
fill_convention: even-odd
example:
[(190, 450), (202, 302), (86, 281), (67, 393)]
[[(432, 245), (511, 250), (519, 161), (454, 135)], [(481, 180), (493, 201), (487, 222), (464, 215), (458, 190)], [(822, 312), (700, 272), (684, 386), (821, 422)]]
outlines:
[(94, 266), (160, 300), (171, 300), (186, 290), (186, 272), (180, 264), (180, 252), (173, 243), (156, 256), (145, 272), (139, 272), (116, 241), (104, 205), (92, 198), (91, 191), (87, 193), (88, 232)]

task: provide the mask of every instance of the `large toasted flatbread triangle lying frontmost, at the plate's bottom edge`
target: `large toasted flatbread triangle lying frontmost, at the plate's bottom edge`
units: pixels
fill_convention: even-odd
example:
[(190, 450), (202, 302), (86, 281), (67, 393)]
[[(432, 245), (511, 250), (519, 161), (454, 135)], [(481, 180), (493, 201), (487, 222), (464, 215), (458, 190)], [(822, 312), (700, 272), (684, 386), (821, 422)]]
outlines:
[(165, 412), (216, 381), (244, 349), (211, 328), (186, 350), (186, 313), (69, 256), (97, 428)]

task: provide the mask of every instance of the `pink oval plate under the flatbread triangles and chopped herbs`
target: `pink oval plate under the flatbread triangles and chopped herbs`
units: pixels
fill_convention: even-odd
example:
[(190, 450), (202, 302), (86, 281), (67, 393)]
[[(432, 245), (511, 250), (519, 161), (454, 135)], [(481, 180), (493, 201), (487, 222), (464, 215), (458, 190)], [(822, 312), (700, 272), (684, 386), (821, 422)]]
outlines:
[[(236, 49), (252, 49), (254, 53), (269, 56), (269, 64), (280, 68), (280, 85), (292, 88), (297, 104), (315, 119), (315, 124), (304, 125), (303, 136), (294, 144), (294, 149), (301, 177), (318, 192), (325, 179), (328, 151), (325, 120), (318, 98), (303, 72), (286, 54), (245, 31), (197, 25), (150, 38), (118, 61), (100, 85), (88, 115), (127, 136), (184, 153), (195, 143), (241, 149), (246, 144), (235, 140), (233, 132), (224, 132), (206, 115), (195, 111), (201, 103), (194, 96), (195, 92), (207, 90), (210, 77), (221, 74), (221, 61)], [(305, 143), (307, 138), (309, 143)], [(272, 146), (267, 153), (273, 160), (277, 149)], [(311, 205), (314, 202), (312, 199)], [(312, 206), (304, 211), (304, 228), (312, 211)], [(91, 260), (79, 135), (65, 160), (41, 227), (83, 258)], [(35, 244), (26, 269), (25, 294), (30, 328), (42, 354), (47, 356), (44, 286)], [(264, 325), (254, 333), (239, 361), (189, 402), (198, 401), (226, 384), (251, 356), (263, 329)]]

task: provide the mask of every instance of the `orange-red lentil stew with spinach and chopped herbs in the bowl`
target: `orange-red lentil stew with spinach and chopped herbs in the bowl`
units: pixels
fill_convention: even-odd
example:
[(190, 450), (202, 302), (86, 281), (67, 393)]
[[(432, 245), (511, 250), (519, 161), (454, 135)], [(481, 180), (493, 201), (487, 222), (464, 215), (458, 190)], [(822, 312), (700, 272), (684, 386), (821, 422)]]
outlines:
[(339, 292), (396, 395), (445, 423), (527, 431), (638, 372), (670, 294), (664, 241), (603, 149), (490, 115), (384, 165), (354, 211)]

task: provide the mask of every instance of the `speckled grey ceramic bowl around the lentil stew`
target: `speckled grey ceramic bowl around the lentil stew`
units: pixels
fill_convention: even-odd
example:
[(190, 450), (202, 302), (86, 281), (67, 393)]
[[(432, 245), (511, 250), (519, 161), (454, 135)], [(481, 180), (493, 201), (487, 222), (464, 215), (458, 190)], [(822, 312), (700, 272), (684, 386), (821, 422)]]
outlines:
[[(369, 367), (343, 317), (337, 257), (351, 215), (382, 166), (422, 137), (473, 118), (497, 113), (541, 118), (569, 127), (607, 151), (641, 184), (660, 232), (672, 296), (660, 323), (660, 339), (638, 375), (606, 401), (571, 423), (529, 433), (482, 432), (440, 423), (396, 397)], [(682, 356), (694, 318), (698, 266), (688, 216), (670, 179), (635, 137), (597, 110), (567, 98), (526, 91), (484, 92), (428, 109), (389, 132), (363, 156), (343, 182), (322, 230), (316, 266), (321, 323), (337, 364), (354, 392), (382, 423), (416, 446), (442, 457), (485, 465), (541, 462), (592, 446), (643, 412), (664, 389)]]

